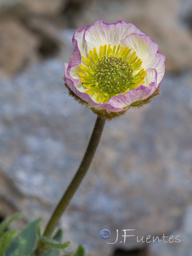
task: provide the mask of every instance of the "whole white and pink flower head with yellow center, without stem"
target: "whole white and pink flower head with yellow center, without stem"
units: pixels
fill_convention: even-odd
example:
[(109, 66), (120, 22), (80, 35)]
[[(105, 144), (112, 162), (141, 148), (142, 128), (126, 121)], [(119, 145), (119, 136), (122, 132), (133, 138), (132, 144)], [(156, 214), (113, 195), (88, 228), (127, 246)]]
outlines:
[(98, 20), (77, 29), (72, 41), (65, 85), (70, 95), (98, 116), (111, 120), (160, 94), (165, 56), (132, 23)]

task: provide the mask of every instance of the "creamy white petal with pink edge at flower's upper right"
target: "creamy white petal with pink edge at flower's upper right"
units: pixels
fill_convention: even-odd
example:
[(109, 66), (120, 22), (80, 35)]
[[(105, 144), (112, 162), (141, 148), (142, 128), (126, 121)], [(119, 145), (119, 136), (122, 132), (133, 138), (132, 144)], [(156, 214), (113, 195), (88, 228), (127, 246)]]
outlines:
[(152, 41), (150, 36), (131, 34), (121, 40), (123, 47), (129, 46), (131, 52), (141, 59), (141, 68), (155, 68), (157, 71), (157, 85), (161, 82), (165, 70), (165, 56), (159, 53), (158, 45)]

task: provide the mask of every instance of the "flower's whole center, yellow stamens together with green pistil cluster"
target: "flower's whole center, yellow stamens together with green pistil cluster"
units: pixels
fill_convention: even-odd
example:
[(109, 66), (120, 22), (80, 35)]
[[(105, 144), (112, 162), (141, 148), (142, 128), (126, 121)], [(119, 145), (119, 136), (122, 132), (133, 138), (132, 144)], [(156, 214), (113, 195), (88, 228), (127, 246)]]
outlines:
[[(108, 100), (119, 93), (137, 88), (143, 84), (146, 72), (140, 69), (142, 61), (135, 57), (136, 52), (130, 53), (127, 46), (121, 48), (121, 44), (111, 48), (110, 44), (100, 46), (99, 54), (96, 49), (90, 50), (87, 60), (82, 56), (82, 64), (79, 66), (82, 85), (86, 93), (99, 103)], [(83, 65), (84, 64), (84, 65)], [(134, 71), (136, 72), (133, 75)], [(135, 72), (134, 72), (135, 73)]]

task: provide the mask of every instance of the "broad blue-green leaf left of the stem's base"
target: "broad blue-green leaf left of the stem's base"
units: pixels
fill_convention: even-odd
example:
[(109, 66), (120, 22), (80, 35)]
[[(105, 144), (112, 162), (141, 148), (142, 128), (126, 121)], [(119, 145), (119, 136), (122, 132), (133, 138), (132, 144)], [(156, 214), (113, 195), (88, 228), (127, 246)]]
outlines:
[(31, 221), (7, 248), (4, 256), (31, 255), (37, 243), (37, 226), (40, 218)]

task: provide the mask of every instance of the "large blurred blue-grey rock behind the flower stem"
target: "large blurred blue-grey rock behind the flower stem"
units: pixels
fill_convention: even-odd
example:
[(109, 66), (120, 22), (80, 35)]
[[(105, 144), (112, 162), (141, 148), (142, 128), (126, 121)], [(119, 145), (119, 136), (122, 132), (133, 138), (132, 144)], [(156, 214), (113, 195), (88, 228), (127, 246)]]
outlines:
[[(15, 186), (6, 192), (1, 185), (1, 194), (27, 219), (43, 215), (44, 224), (78, 167), (95, 120), (67, 95), (62, 76), (63, 61), (50, 59), (0, 83), (1, 172)], [(66, 239), (100, 255), (143, 246), (135, 237), (120, 243), (122, 229), (135, 229), (140, 239), (174, 235), (192, 191), (191, 76), (166, 75), (152, 103), (106, 123), (90, 171), (62, 217)], [(107, 241), (102, 229), (112, 234)], [(118, 241), (107, 244), (115, 242), (116, 229)]]

